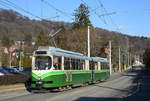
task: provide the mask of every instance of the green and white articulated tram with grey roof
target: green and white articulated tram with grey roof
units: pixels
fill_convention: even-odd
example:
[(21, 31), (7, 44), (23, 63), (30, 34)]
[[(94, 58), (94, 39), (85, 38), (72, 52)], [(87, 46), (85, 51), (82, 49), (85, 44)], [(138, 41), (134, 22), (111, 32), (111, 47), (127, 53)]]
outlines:
[(32, 58), (31, 87), (52, 89), (108, 79), (109, 69), (104, 68), (107, 64), (106, 58), (88, 58), (59, 48), (39, 47)]

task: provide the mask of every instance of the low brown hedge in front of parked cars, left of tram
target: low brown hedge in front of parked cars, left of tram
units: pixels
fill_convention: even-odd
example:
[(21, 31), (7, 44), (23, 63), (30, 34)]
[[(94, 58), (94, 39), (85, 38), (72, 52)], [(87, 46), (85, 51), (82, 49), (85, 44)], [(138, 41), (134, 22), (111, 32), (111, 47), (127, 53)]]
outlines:
[(0, 76), (0, 85), (25, 83), (30, 77), (30, 74)]

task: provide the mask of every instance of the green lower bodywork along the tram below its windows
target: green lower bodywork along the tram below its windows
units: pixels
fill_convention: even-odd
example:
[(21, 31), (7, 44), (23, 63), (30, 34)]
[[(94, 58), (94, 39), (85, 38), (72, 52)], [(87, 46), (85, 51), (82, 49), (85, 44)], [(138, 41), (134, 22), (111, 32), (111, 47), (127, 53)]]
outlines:
[[(60, 70), (51, 71), (43, 74), (41, 77), (42, 82), (52, 81), (51, 84), (43, 84), (44, 88), (60, 87), (71, 84), (79, 84), (92, 81), (91, 70)], [(32, 80), (37, 81), (38, 76), (32, 72)], [(109, 70), (94, 70), (94, 80), (102, 80), (109, 78)], [(35, 86), (32, 86), (35, 87)]]

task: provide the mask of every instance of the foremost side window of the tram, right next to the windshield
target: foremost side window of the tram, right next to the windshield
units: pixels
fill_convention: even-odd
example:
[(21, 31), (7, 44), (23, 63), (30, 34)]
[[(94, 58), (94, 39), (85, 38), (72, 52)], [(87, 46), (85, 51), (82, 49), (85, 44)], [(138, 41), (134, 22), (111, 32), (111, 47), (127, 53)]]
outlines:
[(61, 70), (61, 56), (53, 56), (55, 70)]

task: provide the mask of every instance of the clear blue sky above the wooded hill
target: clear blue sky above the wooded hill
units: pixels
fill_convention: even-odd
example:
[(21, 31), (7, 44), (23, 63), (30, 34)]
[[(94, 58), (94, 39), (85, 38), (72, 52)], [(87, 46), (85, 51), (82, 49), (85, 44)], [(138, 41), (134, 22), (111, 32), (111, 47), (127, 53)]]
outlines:
[[(118, 31), (132, 36), (150, 37), (150, 0), (43, 0), (67, 14), (60, 13), (44, 2), (41, 2), (41, 0), (2, 1), (11, 1), (17, 6), (44, 19), (51, 18), (51, 20), (54, 21), (65, 22), (73, 22), (72, 15), (74, 10), (84, 1), (91, 9), (96, 9), (97, 15), (116, 12), (115, 14), (105, 17), (101, 16), (100, 18), (94, 12), (91, 12), (90, 20), (95, 27)], [(8, 7), (8, 5), (6, 7), (6, 4), (5, 6), (4, 4), (2, 5), (2, 1), (0, 2), (0, 8), (13, 9), (31, 19), (38, 19), (19, 9)], [(106, 11), (100, 6), (99, 1), (102, 2)], [(59, 17), (55, 18), (55, 16)], [(106, 23), (104, 23), (104, 21), (106, 21)]]

